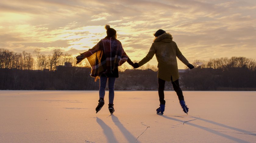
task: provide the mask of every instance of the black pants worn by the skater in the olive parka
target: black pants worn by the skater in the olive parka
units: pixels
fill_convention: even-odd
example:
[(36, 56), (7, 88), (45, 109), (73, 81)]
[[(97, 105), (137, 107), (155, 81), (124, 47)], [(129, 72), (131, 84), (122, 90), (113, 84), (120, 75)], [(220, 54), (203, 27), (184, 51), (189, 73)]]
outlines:
[[(171, 80), (172, 80), (172, 78), (171, 78)], [(178, 95), (179, 100), (180, 101), (184, 100), (184, 96), (183, 96), (183, 93), (182, 93), (182, 90), (181, 90), (180, 84), (179, 84), (179, 79), (177, 79), (176, 81), (172, 81), (172, 86), (173, 86), (174, 91)], [(165, 104), (164, 90), (165, 90), (165, 80), (158, 78), (158, 95), (159, 95), (160, 104)]]

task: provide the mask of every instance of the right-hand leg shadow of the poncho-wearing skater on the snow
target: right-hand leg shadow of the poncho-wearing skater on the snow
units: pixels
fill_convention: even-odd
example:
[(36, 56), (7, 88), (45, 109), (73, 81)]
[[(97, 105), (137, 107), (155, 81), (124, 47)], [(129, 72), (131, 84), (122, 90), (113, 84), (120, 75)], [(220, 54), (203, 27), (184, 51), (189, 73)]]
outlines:
[[(120, 129), (122, 134), (125, 136), (128, 142), (135, 142), (136, 138), (123, 126), (119, 119), (115, 115), (111, 115), (112, 121)], [(139, 142), (139, 141), (137, 141)]]

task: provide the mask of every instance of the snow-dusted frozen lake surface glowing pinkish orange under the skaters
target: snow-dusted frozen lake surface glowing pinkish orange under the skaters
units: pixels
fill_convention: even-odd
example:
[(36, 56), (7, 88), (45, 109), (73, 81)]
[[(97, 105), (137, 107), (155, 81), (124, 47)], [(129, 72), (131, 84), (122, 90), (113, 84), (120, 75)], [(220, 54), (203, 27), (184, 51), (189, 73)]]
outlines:
[(98, 91), (0, 91), (1, 143), (253, 143), (256, 91), (115, 91), (112, 116)]

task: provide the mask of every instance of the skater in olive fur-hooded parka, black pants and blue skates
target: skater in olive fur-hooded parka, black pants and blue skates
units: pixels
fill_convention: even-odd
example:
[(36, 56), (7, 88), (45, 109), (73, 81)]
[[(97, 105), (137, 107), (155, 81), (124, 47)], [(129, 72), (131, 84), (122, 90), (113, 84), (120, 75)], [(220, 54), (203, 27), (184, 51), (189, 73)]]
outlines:
[(179, 85), (179, 72), (177, 59), (187, 65), (188, 68), (192, 69), (194, 66), (188, 62), (188, 60), (182, 55), (177, 44), (172, 41), (172, 35), (166, 33), (164, 30), (159, 29), (154, 34), (155, 40), (151, 45), (151, 48), (140, 62), (134, 63), (134, 68), (138, 68), (148, 61), (150, 61), (154, 55), (158, 61), (158, 95), (160, 101), (160, 107), (156, 109), (158, 115), (162, 115), (165, 111), (165, 100), (164, 100), (164, 88), (165, 81), (171, 81), (174, 91), (176, 91), (180, 105), (185, 113), (188, 112), (187, 105), (184, 101), (184, 96)]

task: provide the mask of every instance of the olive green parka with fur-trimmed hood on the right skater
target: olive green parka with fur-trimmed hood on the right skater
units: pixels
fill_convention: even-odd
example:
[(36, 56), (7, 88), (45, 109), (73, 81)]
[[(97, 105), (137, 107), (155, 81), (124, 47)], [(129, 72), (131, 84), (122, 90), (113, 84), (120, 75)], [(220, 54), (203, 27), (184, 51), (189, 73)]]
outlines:
[(176, 81), (180, 77), (176, 57), (185, 65), (189, 65), (189, 62), (182, 55), (177, 44), (172, 41), (172, 35), (169, 33), (164, 33), (155, 38), (148, 54), (138, 65), (144, 65), (150, 61), (154, 55), (158, 62), (158, 78), (165, 81), (171, 81), (171, 77), (172, 81)]

